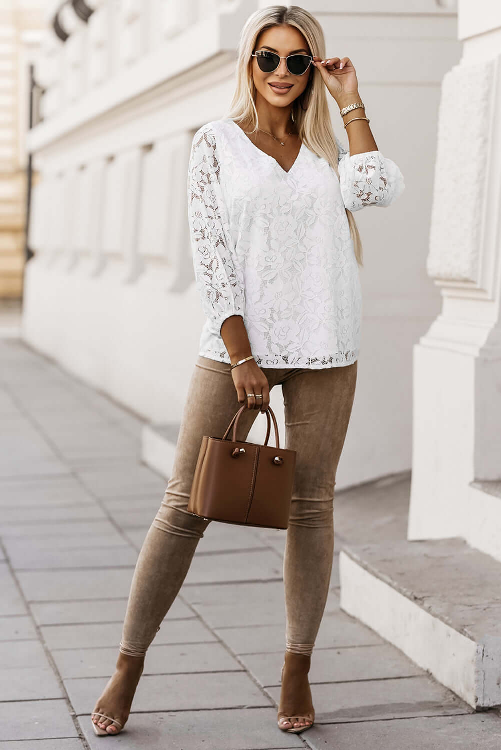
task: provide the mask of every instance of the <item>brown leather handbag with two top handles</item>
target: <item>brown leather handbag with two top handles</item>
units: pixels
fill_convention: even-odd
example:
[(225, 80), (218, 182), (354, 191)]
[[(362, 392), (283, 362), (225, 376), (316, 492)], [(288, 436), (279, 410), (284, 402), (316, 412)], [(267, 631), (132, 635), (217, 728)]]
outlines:
[[(279, 428), (268, 407), (264, 445), (237, 441), (241, 407), (222, 438), (204, 435), (198, 454), (188, 511), (205, 520), (287, 529), (291, 508), (296, 451), (279, 445)], [(275, 427), (275, 448), (268, 446), (270, 415)], [(231, 425), (233, 435), (226, 440)]]

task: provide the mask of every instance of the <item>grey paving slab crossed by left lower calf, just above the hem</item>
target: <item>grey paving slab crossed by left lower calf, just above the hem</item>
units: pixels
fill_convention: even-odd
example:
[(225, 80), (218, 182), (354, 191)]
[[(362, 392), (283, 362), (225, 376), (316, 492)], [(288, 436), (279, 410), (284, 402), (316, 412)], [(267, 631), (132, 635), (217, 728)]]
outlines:
[[(44, 625), (41, 628), (50, 649), (95, 649), (118, 647), (121, 622), (86, 625)], [(199, 619), (164, 619), (155, 643), (210, 643), (216, 636)]]

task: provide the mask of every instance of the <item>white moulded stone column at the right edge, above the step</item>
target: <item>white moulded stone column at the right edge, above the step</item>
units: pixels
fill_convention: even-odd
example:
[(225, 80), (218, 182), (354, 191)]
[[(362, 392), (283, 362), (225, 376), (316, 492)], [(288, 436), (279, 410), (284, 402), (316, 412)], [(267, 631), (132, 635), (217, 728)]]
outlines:
[(501, 5), (463, 0), (459, 28), (427, 259), (442, 313), (414, 350), (409, 539), (469, 538), (470, 483), (501, 479)]

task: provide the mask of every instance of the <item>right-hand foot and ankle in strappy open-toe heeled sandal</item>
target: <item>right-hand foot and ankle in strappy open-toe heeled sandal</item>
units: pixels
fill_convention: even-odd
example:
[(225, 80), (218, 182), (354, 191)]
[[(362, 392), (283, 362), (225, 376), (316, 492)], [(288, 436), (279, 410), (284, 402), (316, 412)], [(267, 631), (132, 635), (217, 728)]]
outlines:
[[(310, 662), (311, 655), (285, 652), (285, 661), (280, 676), (282, 691), (276, 717), (278, 727), (282, 732), (299, 734), (313, 726), (315, 709), (307, 677)], [(291, 726), (289, 727), (288, 724)]]

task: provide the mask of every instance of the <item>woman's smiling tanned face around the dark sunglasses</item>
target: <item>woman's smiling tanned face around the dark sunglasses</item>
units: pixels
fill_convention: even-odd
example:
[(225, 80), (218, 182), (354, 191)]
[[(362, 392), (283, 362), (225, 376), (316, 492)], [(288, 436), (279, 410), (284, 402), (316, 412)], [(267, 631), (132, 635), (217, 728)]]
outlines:
[[(300, 31), (294, 26), (284, 24), (282, 26), (273, 26), (261, 31), (259, 34), (254, 52), (258, 49), (267, 49), (269, 52), (276, 52), (280, 57), (285, 58), (291, 54), (311, 55), (306, 39)], [(293, 76), (289, 73), (285, 59), (280, 60), (280, 65), (273, 73), (264, 73), (258, 65), (257, 58), (252, 58), (252, 77), (254, 85), (260, 94), (272, 107), (290, 107), (294, 99), (300, 96), (306, 86), (309, 78), (312, 76), (313, 66), (310, 65), (308, 70), (302, 76)], [(277, 83), (290, 88), (283, 93), (273, 89), (270, 84)]]

